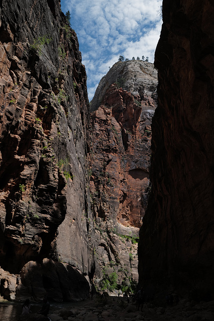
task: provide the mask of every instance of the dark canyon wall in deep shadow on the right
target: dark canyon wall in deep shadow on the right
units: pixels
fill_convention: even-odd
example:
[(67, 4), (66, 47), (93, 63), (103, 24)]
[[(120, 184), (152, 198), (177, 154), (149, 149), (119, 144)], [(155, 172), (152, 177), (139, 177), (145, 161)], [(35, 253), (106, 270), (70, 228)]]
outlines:
[(213, 297), (214, 5), (163, 1), (155, 54), (152, 192), (138, 249), (140, 282)]

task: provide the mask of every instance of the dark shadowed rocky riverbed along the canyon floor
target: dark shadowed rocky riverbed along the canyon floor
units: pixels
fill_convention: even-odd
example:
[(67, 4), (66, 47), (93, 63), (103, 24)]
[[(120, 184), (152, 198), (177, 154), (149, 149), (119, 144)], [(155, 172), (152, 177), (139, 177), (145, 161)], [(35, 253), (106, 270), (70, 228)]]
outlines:
[[(60, 304), (59, 304), (60, 306)], [(214, 316), (214, 301), (196, 302), (181, 299), (178, 304), (144, 303), (142, 311), (136, 310), (132, 299), (121, 297), (94, 298), (82, 302), (70, 303), (59, 308), (51, 305), (49, 318), (39, 314), (31, 314), (26, 319), (30, 321), (212, 321)]]

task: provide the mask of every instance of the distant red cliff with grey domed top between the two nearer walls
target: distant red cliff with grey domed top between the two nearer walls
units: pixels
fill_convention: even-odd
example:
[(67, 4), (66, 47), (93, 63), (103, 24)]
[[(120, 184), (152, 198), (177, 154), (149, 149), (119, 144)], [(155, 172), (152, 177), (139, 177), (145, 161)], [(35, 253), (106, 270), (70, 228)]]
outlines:
[[(136, 238), (150, 191), (156, 85), (153, 64), (117, 62), (100, 81), (91, 102), (95, 256), (100, 269), (116, 272), (122, 285), (138, 279)], [(101, 275), (97, 267), (95, 276)]]

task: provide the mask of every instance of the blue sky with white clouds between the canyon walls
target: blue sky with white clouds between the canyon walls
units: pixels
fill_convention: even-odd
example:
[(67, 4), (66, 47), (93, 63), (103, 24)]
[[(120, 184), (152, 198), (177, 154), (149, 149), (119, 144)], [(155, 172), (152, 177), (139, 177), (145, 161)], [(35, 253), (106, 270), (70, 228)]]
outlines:
[(89, 101), (100, 79), (120, 55), (154, 61), (162, 20), (162, 0), (61, 0), (64, 13), (71, 14), (82, 63), (86, 67)]

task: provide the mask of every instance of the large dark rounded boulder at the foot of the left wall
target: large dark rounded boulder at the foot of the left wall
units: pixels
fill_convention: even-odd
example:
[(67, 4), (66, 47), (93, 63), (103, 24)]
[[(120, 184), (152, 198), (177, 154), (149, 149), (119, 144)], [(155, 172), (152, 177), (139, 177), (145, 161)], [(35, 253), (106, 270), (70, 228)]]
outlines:
[(47, 296), (51, 301), (79, 301), (89, 297), (87, 278), (67, 263), (44, 259), (42, 263), (28, 262), (21, 271), (16, 298), (31, 297), (40, 301)]

